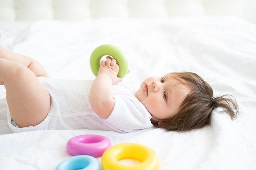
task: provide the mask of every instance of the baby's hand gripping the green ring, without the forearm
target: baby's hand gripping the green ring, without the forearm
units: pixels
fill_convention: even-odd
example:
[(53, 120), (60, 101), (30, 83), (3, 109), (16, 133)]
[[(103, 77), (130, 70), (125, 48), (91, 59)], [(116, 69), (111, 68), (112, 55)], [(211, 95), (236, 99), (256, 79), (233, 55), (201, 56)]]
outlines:
[(112, 84), (117, 82), (121, 82), (122, 79), (117, 77), (117, 73), (119, 71), (119, 66), (117, 64), (117, 60), (108, 56), (106, 61), (102, 60), (99, 67), (99, 74), (106, 74), (112, 79)]

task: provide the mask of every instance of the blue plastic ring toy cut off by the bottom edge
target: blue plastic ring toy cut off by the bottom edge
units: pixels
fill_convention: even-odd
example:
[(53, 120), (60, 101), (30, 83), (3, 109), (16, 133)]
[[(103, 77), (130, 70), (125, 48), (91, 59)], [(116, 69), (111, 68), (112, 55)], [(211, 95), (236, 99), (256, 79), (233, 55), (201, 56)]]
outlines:
[(55, 170), (99, 170), (99, 162), (88, 155), (79, 155), (65, 159)]

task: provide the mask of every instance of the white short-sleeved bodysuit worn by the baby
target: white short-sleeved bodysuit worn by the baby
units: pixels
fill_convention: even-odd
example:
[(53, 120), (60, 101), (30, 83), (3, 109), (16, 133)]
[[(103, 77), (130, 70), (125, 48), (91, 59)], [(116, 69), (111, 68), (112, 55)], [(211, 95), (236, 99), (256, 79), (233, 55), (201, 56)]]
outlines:
[(151, 128), (151, 115), (135, 97), (131, 84), (112, 85), (115, 91), (115, 106), (111, 115), (103, 119), (90, 106), (90, 88), (93, 80), (65, 80), (38, 78), (51, 97), (51, 107), (45, 120), (37, 126), (19, 128), (11, 124), (7, 107), (8, 124), (13, 132), (44, 129), (94, 129), (117, 132), (132, 132)]

